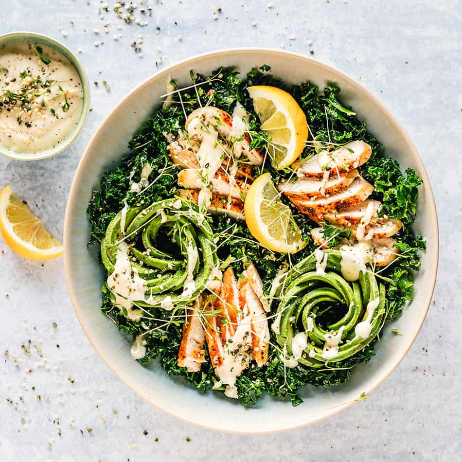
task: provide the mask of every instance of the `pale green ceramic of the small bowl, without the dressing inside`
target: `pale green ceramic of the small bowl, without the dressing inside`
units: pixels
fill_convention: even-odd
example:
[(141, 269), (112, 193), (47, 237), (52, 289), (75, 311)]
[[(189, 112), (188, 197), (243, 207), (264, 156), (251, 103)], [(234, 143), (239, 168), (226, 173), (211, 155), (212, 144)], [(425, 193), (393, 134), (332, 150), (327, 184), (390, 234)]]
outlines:
[(75, 68), (75, 70), (77, 71), (77, 74), (79, 75), (79, 78), (80, 78), (80, 82), (82, 84), (82, 94), (83, 94), (82, 112), (80, 113), (78, 123), (76, 124), (75, 128), (71, 131), (67, 139), (60, 142), (56, 147), (52, 149), (48, 149), (46, 151), (42, 151), (38, 154), (14, 152), (11, 149), (2, 147), (0, 145), (0, 154), (3, 154), (4, 156), (9, 157), (11, 159), (40, 160), (40, 159), (46, 159), (47, 157), (52, 157), (52, 156), (55, 156), (56, 154), (59, 154), (60, 152), (67, 149), (77, 138), (78, 134), (80, 133), (80, 130), (82, 130), (83, 126), (85, 125), (85, 122), (87, 120), (87, 116), (89, 113), (90, 87), (88, 83), (87, 73), (85, 72), (84, 67), (82, 66), (80, 61), (77, 59), (75, 54), (72, 53), (71, 50), (69, 50), (69, 48), (67, 48), (65, 45), (58, 42), (54, 38), (45, 36), (43, 34), (37, 34), (35, 32), (10, 32), (9, 34), (0, 35), (0, 47), (2, 45), (10, 45), (12, 43), (27, 42), (27, 41), (42, 43), (43, 45), (47, 45), (51, 48), (54, 48), (57, 52), (64, 55), (69, 60), (71, 65)]

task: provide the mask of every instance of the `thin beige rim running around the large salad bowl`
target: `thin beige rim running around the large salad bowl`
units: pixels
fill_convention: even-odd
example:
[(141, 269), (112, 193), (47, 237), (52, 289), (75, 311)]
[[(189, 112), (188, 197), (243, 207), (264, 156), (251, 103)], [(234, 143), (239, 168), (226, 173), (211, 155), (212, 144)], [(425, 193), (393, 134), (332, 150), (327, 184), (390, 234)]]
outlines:
[(429, 194), (426, 197), (426, 201), (428, 202), (428, 205), (429, 205), (429, 208), (430, 208), (431, 219), (432, 219), (432, 221), (434, 221), (433, 225), (435, 226), (435, 232), (436, 232), (436, 243), (435, 243), (434, 251), (433, 251), (433, 254), (429, 255), (429, 257), (430, 257), (429, 258), (430, 259), (429, 266), (431, 266), (430, 269), (432, 271), (432, 274), (429, 275), (428, 279), (431, 282), (431, 290), (428, 291), (428, 300), (426, 302), (425, 310), (420, 311), (420, 319), (415, 320), (415, 323), (418, 326), (418, 328), (415, 331), (415, 335), (412, 338), (409, 338), (409, 344), (407, 345), (405, 350), (403, 350), (402, 355), (399, 355), (397, 357), (397, 359), (395, 359), (391, 363), (390, 367), (386, 371), (384, 371), (377, 378), (377, 380), (373, 384), (373, 386), (369, 387), (364, 392), (366, 394), (369, 394), (371, 391), (375, 390), (396, 369), (396, 367), (399, 365), (399, 363), (408, 354), (409, 349), (411, 348), (412, 344), (414, 343), (415, 338), (417, 337), (417, 335), (419, 334), (419, 332), (420, 332), (420, 330), (422, 328), (422, 325), (423, 325), (423, 323), (424, 323), (424, 321), (426, 319), (426, 315), (428, 313), (428, 309), (430, 307), (431, 300), (433, 298), (433, 292), (434, 292), (434, 288), (435, 288), (435, 284), (436, 284), (436, 277), (437, 277), (437, 272), (438, 272), (438, 260), (439, 260), (438, 215), (437, 215), (437, 210), (436, 210), (436, 204), (435, 204), (435, 198), (434, 198), (434, 195), (433, 195), (433, 190), (432, 190), (431, 183), (430, 183), (430, 180), (428, 178), (428, 175), (426, 173), (426, 169), (425, 169), (423, 160), (421, 159), (421, 157), (420, 157), (420, 155), (419, 155), (419, 153), (417, 151), (417, 148), (415, 147), (414, 143), (410, 139), (410, 137), (409, 137), (408, 133), (406, 132), (404, 126), (393, 116), (393, 114), (391, 113), (391, 110), (384, 103), (382, 103), (380, 101), (380, 99), (373, 92), (366, 89), (361, 83), (359, 83), (356, 79), (350, 77), (347, 73), (345, 73), (343, 71), (339, 71), (334, 66), (331, 66), (329, 64), (325, 64), (325, 63), (321, 62), (318, 59), (315, 59), (315, 58), (313, 58), (311, 56), (306, 56), (306, 55), (304, 55), (302, 53), (295, 53), (295, 52), (289, 52), (289, 51), (286, 51), (286, 50), (278, 50), (278, 49), (273, 49), (273, 48), (262, 48), (262, 47), (227, 48), (227, 49), (223, 49), (223, 50), (214, 50), (214, 51), (210, 51), (210, 52), (206, 52), (206, 53), (196, 54), (196, 55), (191, 56), (189, 58), (185, 58), (185, 59), (182, 59), (182, 60), (180, 60), (178, 62), (175, 62), (174, 64), (166, 67), (165, 69), (152, 74), (147, 79), (145, 79), (142, 83), (140, 83), (138, 86), (136, 86), (134, 89), (132, 89), (121, 101), (119, 101), (119, 103), (117, 103), (115, 105), (115, 107), (112, 109), (112, 111), (107, 115), (107, 117), (104, 119), (104, 121), (100, 124), (98, 129), (95, 131), (95, 133), (91, 137), (91, 139), (90, 139), (90, 141), (89, 141), (89, 143), (88, 143), (88, 145), (87, 145), (87, 147), (85, 149), (85, 152), (82, 155), (82, 157), (81, 157), (81, 159), (80, 159), (80, 161), (79, 161), (79, 163), (77, 165), (77, 169), (75, 171), (74, 178), (73, 178), (72, 184), (71, 184), (71, 189), (70, 189), (69, 196), (68, 196), (68, 201), (67, 201), (67, 205), (66, 205), (66, 214), (65, 214), (65, 219), (64, 219), (64, 236), (63, 236), (63, 241), (64, 241), (64, 269), (65, 269), (66, 283), (67, 283), (67, 286), (68, 286), (72, 306), (74, 308), (77, 319), (79, 320), (85, 334), (89, 338), (89, 341), (90, 341), (91, 345), (96, 350), (98, 355), (103, 359), (103, 361), (106, 363), (106, 365), (112, 371), (112, 373), (114, 373), (115, 376), (121, 382), (123, 382), (124, 385), (127, 386), (131, 391), (134, 391), (138, 396), (140, 396), (142, 399), (147, 401), (150, 405), (154, 406), (155, 408), (160, 409), (160, 410), (166, 412), (167, 414), (169, 414), (169, 415), (171, 415), (171, 416), (173, 416), (173, 417), (175, 417), (175, 418), (177, 418), (177, 419), (179, 419), (179, 420), (181, 420), (183, 422), (187, 422), (188, 424), (192, 424), (192, 425), (195, 425), (195, 426), (199, 426), (199, 427), (207, 428), (207, 429), (211, 429), (211, 430), (217, 430), (217, 431), (220, 431), (220, 432), (223, 432), (223, 433), (233, 433), (233, 434), (272, 434), (272, 433), (279, 433), (279, 432), (283, 432), (283, 431), (293, 430), (293, 429), (296, 429), (296, 428), (302, 428), (304, 426), (308, 426), (308, 425), (317, 423), (317, 422), (319, 422), (319, 421), (321, 421), (321, 420), (323, 420), (323, 419), (325, 419), (327, 417), (330, 417), (332, 415), (337, 414), (338, 412), (340, 412), (340, 411), (342, 411), (344, 409), (349, 408), (353, 404), (353, 401), (348, 402), (348, 403), (344, 403), (344, 404), (339, 405), (338, 407), (333, 408), (333, 409), (328, 409), (328, 411), (326, 411), (326, 413), (324, 413), (322, 416), (317, 417), (317, 418), (313, 418), (311, 420), (307, 420), (307, 421), (302, 422), (302, 423), (297, 423), (297, 424), (294, 424), (292, 426), (287, 426), (285, 428), (255, 430), (255, 431), (252, 431), (252, 432), (239, 430), (238, 428), (233, 428), (232, 430), (219, 428), (219, 427), (216, 427), (216, 426), (213, 426), (213, 425), (206, 425), (206, 424), (203, 424), (203, 423), (197, 423), (192, 418), (187, 418), (187, 417), (184, 417), (184, 416), (180, 416), (180, 415), (176, 414), (175, 412), (170, 411), (170, 409), (168, 409), (168, 406), (163, 405), (161, 402), (154, 403), (153, 401), (151, 401), (147, 396), (145, 396), (143, 394), (142, 390), (133, 388), (130, 383), (128, 383), (123, 377), (121, 377), (119, 375), (118, 371), (115, 369), (115, 366), (112, 367), (112, 365), (110, 363), (110, 360), (107, 358), (106, 351), (98, 349), (95, 346), (92, 338), (89, 336), (89, 334), (87, 332), (87, 329), (85, 327), (85, 320), (83, 319), (83, 317), (81, 316), (81, 314), (79, 312), (78, 298), (77, 298), (76, 293), (74, 291), (73, 281), (72, 281), (72, 278), (71, 278), (72, 261), (71, 261), (70, 249), (69, 249), (69, 245), (70, 245), (70, 241), (71, 241), (71, 239), (70, 239), (70, 237), (71, 237), (71, 231), (70, 231), (70, 229), (71, 229), (71, 212), (70, 212), (71, 205), (70, 204), (73, 202), (74, 196), (76, 195), (77, 184), (78, 184), (79, 179), (80, 179), (79, 176), (81, 174), (81, 170), (83, 169), (84, 163), (86, 162), (87, 158), (89, 157), (89, 153), (90, 153), (90, 150), (92, 148), (92, 144), (98, 138), (98, 136), (99, 136), (100, 132), (102, 131), (104, 125), (107, 123), (107, 120), (109, 118), (111, 118), (112, 114), (119, 107), (123, 106), (125, 104), (125, 102), (129, 98), (131, 98), (135, 93), (140, 91), (144, 86), (149, 85), (152, 80), (159, 79), (162, 76), (168, 76), (172, 71), (175, 71), (175, 69), (180, 67), (180, 66), (184, 66), (184, 65), (188, 65), (188, 64), (191, 65), (191, 66), (194, 66), (194, 62), (197, 61), (198, 59), (213, 58), (213, 57), (220, 56), (220, 55), (223, 55), (223, 54), (232, 54), (232, 53), (249, 53), (249, 54), (250, 53), (275, 53), (275, 54), (279, 54), (279, 55), (292, 56), (292, 57), (296, 57), (296, 58), (299, 58), (299, 59), (315, 61), (321, 68), (324, 68), (324, 70), (329, 70), (331, 72), (334, 72), (334, 73), (338, 74), (343, 79), (348, 80), (350, 82), (350, 84), (352, 84), (354, 87), (356, 87), (356, 89), (358, 89), (360, 92), (365, 93), (367, 96), (369, 96), (369, 98), (371, 98), (371, 100), (374, 102), (374, 104), (377, 105), (378, 107), (380, 107), (380, 109), (387, 115), (387, 117), (390, 118), (391, 122), (398, 128), (398, 130), (400, 131), (400, 134), (403, 136), (406, 143), (408, 144), (409, 149), (412, 152), (412, 157), (416, 160), (417, 164), (421, 168), (422, 180), (423, 180), (424, 184), (426, 184), (428, 186), (428, 193)]

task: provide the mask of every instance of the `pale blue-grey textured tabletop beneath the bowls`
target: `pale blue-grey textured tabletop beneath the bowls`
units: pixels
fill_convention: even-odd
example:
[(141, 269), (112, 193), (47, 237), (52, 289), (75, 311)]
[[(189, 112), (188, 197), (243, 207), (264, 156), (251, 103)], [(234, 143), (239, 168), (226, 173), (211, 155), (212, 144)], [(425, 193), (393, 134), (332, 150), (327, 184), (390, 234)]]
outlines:
[[(378, 94), (421, 153), (442, 231), (434, 301), (409, 354), (370, 400), (284, 434), (226, 435), (179, 422), (134, 396), (81, 330), (62, 259), (44, 266), (25, 261), (0, 240), (0, 351), (9, 352), (0, 367), (0, 460), (460, 460), (462, 3), (275, 0), (268, 8), (266, 0), (165, 0), (151, 3), (152, 17), (142, 18), (145, 27), (117, 18), (113, 3), (101, 19), (96, 0), (44, 0), (40, 6), (0, 1), (2, 11), (8, 7), (8, 15), (0, 15), (1, 33), (32, 29), (61, 39), (74, 52), (81, 47), (90, 82), (99, 82), (91, 84), (93, 110), (77, 142), (49, 160), (1, 158), (1, 187), (9, 183), (61, 235), (73, 172), (87, 142), (112, 107), (156, 71), (160, 56), (163, 67), (218, 48), (314, 50), (314, 57)], [(139, 10), (149, 2), (138, 4)], [(222, 11), (214, 19), (217, 7)], [(116, 41), (114, 34), (123, 36)], [(138, 34), (144, 38), (141, 58), (130, 47)], [(104, 44), (95, 47), (95, 41)], [(47, 358), (44, 365), (37, 350)]]

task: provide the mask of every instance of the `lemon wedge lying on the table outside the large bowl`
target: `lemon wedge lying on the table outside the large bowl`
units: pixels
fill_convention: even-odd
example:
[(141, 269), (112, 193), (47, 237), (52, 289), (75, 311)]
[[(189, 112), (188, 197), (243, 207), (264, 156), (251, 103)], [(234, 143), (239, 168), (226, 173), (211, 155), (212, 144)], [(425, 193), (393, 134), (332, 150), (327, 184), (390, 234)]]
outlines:
[(9, 186), (0, 194), (0, 232), (6, 244), (21, 257), (50, 260), (63, 253), (62, 244)]

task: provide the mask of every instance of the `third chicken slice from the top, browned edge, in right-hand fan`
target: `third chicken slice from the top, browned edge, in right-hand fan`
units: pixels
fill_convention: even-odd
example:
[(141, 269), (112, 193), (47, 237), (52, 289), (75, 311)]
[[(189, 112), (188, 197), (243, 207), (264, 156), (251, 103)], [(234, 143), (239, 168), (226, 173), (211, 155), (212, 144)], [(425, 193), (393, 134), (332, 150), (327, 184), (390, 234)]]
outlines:
[(336, 210), (357, 205), (365, 200), (373, 190), (373, 185), (359, 175), (341, 193), (306, 199), (290, 197), (290, 200), (300, 212), (306, 213), (312, 220), (323, 221), (326, 213), (334, 213)]

